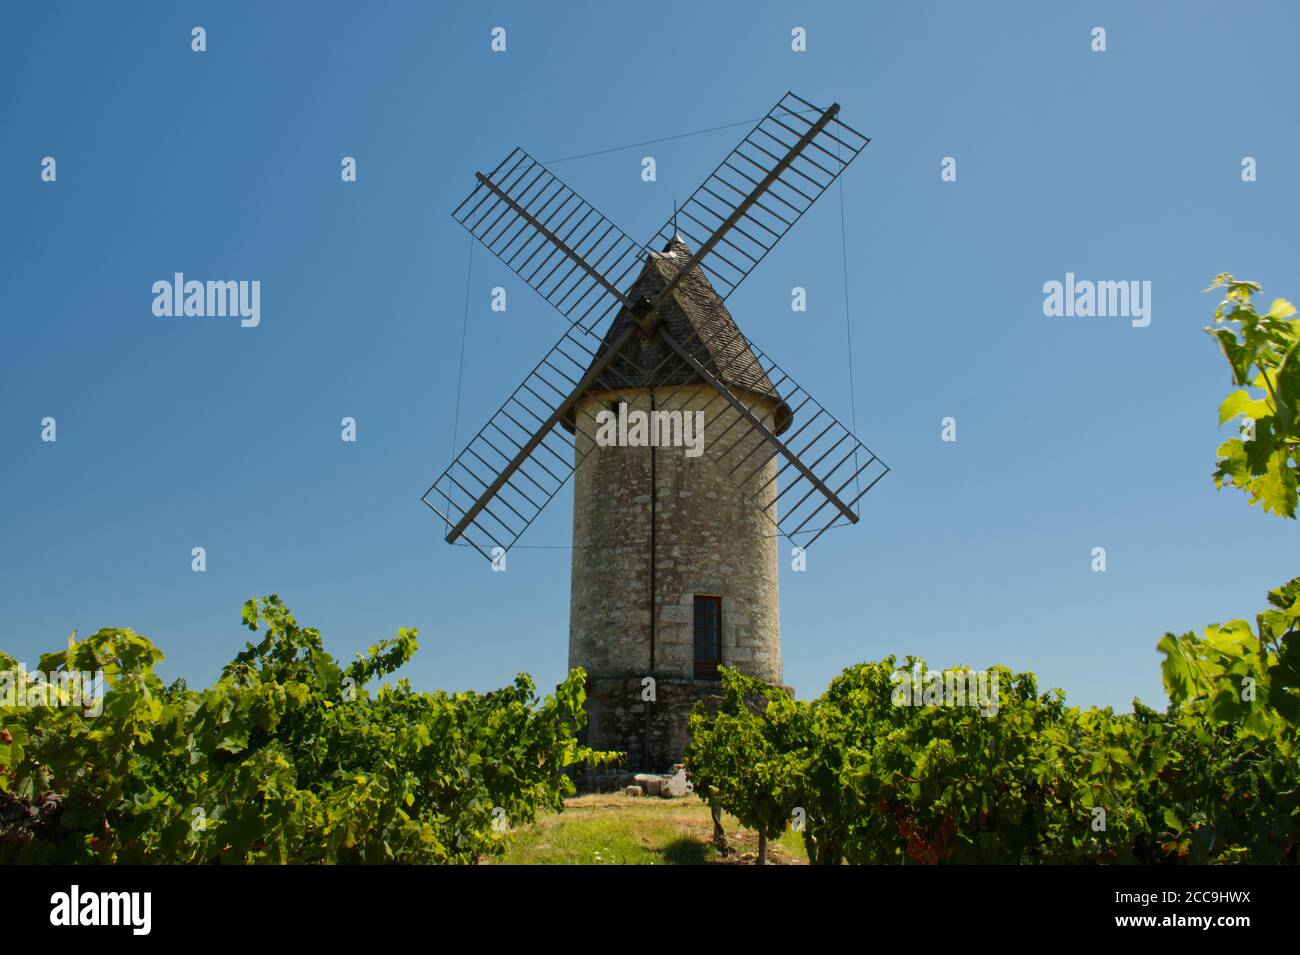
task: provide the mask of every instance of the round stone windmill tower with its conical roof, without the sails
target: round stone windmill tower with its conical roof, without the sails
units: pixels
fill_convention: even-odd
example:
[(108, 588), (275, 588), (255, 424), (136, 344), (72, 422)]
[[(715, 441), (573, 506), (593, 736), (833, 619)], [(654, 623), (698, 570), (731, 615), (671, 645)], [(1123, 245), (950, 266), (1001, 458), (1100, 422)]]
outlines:
[[(653, 299), (690, 257), (673, 236), (647, 256), (629, 298)], [(768, 430), (789, 427), (789, 407), (698, 265), (659, 320)], [(621, 309), (604, 347), (634, 326)], [(589, 742), (660, 769), (685, 751), (686, 717), (716, 694), (719, 664), (781, 682), (775, 504), (754, 507), (729, 481), (744, 463), (762, 461), (755, 477), (775, 499), (776, 461), (662, 338), (634, 334), (623, 359), (566, 422), (585, 461), (573, 479), (569, 668), (588, 673)], [(602, 446), (602, 412), (603, 421), (645, 414), (646, 443)], [(675, 440), (688, 426), (690, 447)], [(653, 702), (642, 699), (647, 676)]]

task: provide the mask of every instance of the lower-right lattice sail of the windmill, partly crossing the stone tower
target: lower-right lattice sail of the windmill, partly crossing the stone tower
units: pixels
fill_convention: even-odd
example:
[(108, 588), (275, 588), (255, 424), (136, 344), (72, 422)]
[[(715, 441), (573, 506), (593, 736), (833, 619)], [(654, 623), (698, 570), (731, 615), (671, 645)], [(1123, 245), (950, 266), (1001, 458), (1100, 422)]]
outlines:
[[(781, 535), (807, 548), (832, 526), (858, 522), (858, 502), (889, 473), (871, 448), (734, 325), (707, 348), (697, 347), (698, 335), (677, 340), (663, 325), (656, 331), (676, 361), (716, 391), (702, 409), (706, 422), (731, 408), (727, 426), (708, 438), (710, 456), (731, 464), (728, 476)], [(779, 418), (798, 426), (777, 437), (785, 426)], [(774, 459), (779, 468), (767, 466)]]

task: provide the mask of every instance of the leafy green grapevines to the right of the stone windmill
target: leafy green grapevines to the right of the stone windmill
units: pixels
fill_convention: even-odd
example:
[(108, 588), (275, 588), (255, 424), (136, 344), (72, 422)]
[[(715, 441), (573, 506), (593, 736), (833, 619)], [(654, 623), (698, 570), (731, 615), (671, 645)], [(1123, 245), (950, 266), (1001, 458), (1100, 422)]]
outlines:
[(801, 829), (812, 863), (1295, 863), (1300, 578), (1269, 603), (1256, 630), (1160, 642), (1164, 712), (1078, 709), (1002, 668), (996, 716), (907, 706), (913, 657), (811, 702), (727, 670), (686, 765), (760, 838)]

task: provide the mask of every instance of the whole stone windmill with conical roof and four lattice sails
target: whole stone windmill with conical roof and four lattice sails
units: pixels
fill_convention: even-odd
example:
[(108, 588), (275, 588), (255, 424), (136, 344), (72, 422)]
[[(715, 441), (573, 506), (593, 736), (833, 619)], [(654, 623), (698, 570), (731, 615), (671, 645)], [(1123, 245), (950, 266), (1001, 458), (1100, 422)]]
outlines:
[(718, 664), (781, 681), (777, 538), (802, 557), (888, 473), (725, 307), (870, 142), (838, 112), (785, 94), (645, 244), (519, 148), (452, 213), (568, 329), (422, 500), (495, 561), (575, 478), (569, 665), (588, 741), (645, 769)]

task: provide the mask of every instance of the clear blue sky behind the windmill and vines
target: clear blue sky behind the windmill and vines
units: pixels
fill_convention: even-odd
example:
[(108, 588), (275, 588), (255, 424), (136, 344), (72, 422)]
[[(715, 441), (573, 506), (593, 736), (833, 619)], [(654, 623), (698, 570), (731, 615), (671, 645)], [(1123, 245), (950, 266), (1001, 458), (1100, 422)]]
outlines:
[[(800, 695), (915, 652), (1032, 669), (1080, 704), (1160, 703), (1165, 630), (1253, 616), (1300, 572), (1294, 522), (1210, 483), (1230, 382), (1200, 331), (1218, 272), (1300, 298), (1296, 8), (610, 6), (4, 5), (0, 647), (35, 665), (73, 629), (130, 626), (165, 676), (207, 685), (248, 635), (240, 603), (278, 592), (343, 656), (419, 626), (417, 687), (558, 682), (567, 492), (504, 574), (420, 503), (455, 426), (468, 236), (448, 213), (516, 144), (550, 160), (672, 136), (788, 88), (872, 138), (844, 178), (852, 361), (857, 433), (893, 468), (806, 573), (783, 564)], [(554, 172), (649, 235), (742, 133)], [(840, 249), (828, 194), (729, 304), (848, 422)], [(174, 272), (259, 279), (261, 325), (155, 317)], [(1150, 326), (1045, 317), (1066, 272), (1150, 281)], [(480, 249), (462, 442), (560, 331)]]

